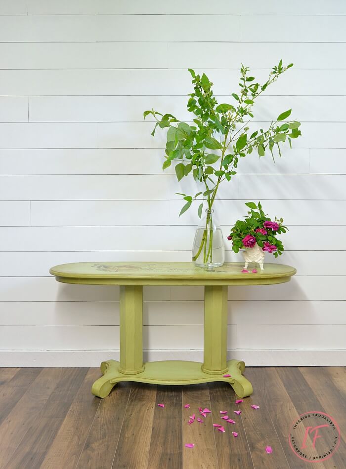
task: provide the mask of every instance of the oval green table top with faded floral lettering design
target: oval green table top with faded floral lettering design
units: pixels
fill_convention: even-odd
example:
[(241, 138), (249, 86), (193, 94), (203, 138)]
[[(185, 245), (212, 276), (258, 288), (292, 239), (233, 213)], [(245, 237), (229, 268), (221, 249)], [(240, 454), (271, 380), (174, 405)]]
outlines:
[(49, 273), (63, 283), (88, 285), (268, 285), (284, 283), (296, 269), (264, 264), (257, 273), (242, 273), (244, 262), (225, 262), (203, 269), (192, 262), (77, 262), (52, 267)]

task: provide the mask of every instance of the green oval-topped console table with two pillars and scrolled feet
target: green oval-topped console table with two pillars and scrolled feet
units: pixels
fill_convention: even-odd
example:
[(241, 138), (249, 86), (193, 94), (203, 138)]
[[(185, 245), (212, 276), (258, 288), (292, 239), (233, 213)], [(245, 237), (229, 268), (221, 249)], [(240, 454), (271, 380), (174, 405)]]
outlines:
[[(258, 273), (242, 273), (244, 263), (225, 263), (213, 270), (191, 262), (103, 262), (62, 264), (50, 274), (63, 283), (120, 285), (120, 362), (101, 363), (102, 377), (92, 385), (95, 396), (106, 397), (120, 381), (182, 385), (225, 381), (239, 397), (253, 392), (243, 376), (245, 363), (227, 361), (227, 286), (268, 285), (291, 279), (296, 269), (265, 264)], [(204, 286), (204, 362), (152, 361), (143, 363), (143, 285)], [(230, 376), (225, 376), (230, 375)]]

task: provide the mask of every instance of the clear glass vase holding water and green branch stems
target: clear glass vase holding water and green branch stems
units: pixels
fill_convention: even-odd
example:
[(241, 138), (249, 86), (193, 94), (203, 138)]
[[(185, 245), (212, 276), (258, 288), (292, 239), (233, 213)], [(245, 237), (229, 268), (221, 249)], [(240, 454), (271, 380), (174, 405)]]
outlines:
[(220, 267), (224, 263), (225, 249), (221, 228), (214, 219), (214, 210), (206, 210), (196, 230), (192, 247), (192, 261), (205, 269)]

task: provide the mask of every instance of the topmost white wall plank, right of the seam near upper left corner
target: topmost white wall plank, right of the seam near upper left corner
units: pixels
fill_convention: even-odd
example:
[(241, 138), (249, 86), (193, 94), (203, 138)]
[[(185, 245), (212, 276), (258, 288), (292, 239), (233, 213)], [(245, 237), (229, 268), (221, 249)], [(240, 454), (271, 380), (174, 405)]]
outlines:
[[(115, 15), (115, 14), (196, 14), (196, 4), (177, 0), (174, 3), (162, 2), (160, 0), (150, 0), (145, 3), (141, 1), (118, 0), (28, 0), (29, 15)], [(341, 0), (333, 2), (316, 2), (313, 0), (292, 0), (289, 4), (278, 3), (275, 0), (268, 0), (259, 4), (256, 0), (249, 0), (240, 3), (229, 0), (218, 0), (211, 3), (208, 0), (198, 1), (198, 13), (200, 14), (220, 14), (220, 15), (260, 15), (260, 14), (346, 14), (346, 6)]]

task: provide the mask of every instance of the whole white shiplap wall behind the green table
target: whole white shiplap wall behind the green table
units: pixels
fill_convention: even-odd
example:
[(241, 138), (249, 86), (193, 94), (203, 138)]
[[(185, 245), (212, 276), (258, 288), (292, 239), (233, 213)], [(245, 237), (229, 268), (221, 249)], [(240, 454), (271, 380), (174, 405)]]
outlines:
[[(292, 14), (294, 12), (294, 15)], [(190, 260), (164, 138), (142, 112), (188, 119), (188, 67), (224, 101), (239, 66), (268, 88), (256, 120), (290, 107), (303, 137), (274, 165), (249, 156), (216, 212), (261, 199), (290, 227), (283, 285), (229, 288), (228, 348), (253, 365), (346, 361), (346, 2), (0, 0), (0, 366), (97, 366), (117, 356), (117, 287), (62, 285), (52, 265)], [(228, 246), (229, 249), (229, 246)], [(227, 251), (227, 260), (239, 260)], [(149, 358), (201, 359), (203, 290), (144, 291)]]

